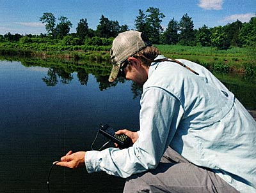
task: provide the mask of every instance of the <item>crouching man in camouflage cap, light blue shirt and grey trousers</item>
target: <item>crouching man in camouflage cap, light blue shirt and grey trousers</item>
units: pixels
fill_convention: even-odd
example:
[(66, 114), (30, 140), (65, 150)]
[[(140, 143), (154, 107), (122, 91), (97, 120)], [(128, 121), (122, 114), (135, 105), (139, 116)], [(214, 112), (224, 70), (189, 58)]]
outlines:
[(60, 166), (85, 164), (127, 178), (124, 192), (256, 192), (256, 122), (207, 69), (166, 59), (143, 34), (118, 34), (109, 81), (143, 85), (132, 147), (68, 152)]

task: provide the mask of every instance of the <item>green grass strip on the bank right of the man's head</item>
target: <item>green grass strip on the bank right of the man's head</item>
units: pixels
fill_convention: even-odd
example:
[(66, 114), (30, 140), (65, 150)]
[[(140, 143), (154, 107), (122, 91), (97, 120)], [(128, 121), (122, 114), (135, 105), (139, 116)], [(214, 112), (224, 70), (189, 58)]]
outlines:
[(253, 48), (216, 50), (212, 47), (156, 45), (161, 54), (173, 59), (188, 59), (212, 71), (256, 73), (256, 54)]

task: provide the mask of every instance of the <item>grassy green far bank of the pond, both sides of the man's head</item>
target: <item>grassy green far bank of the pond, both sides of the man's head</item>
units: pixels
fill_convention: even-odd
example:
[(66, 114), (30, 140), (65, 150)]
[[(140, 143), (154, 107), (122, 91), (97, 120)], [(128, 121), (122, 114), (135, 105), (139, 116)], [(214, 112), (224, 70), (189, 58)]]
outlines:
[[(216, 50), (212, 47), (156, 45), (161, 54), (173, 59), (188, 59), (212, 71), (256, 73), (255, 48)], [(0, 43), (0, 55), (52, 57), (76, 61), (110, 62), (110, 46), (63, 46), (61, 43)]]

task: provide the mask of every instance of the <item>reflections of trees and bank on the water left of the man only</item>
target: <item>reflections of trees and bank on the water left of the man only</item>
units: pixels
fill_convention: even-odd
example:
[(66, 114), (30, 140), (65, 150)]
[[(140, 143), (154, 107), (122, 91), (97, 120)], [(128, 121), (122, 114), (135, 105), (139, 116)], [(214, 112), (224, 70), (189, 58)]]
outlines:
[[(54, 87), (58, 83), (68, 84), (74, 79), (73, 74), (77, 74), (77, 78), (81, 85), (87, 85), (88, 75), (92, 74), (95, 76), (97, 83), (99, 83), (100, 90), (106, 90), (109, 87), (115, 87), (118, 83), (124, 83), (125, 79), (122, 77), (116, 78), (115, 82), (108, 82), (109, 73), (111, 71), (111, 64), (99, 64), (95, 62), (84, 62), (77, 61), (60, 61), (54, 59), (23, 59), (21, 61), (23, 66), (41, 66), (49, 68), (47, 75), (42, 78), (43, 82), (47, 86)], [(141, 96), (141, 87), (132, 83), (131, 87), (134, 93), (134, 99)]]

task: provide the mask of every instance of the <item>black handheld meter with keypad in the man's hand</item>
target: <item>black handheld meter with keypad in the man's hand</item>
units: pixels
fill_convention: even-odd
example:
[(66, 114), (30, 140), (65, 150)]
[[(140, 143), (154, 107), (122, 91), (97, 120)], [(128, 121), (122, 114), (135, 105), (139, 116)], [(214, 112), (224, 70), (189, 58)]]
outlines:
[(99, 132), (106, 138), (110, 139), (114, 143), (117, 143), (120, 148), (128, 148), (131, 146), (131, 138), (125, 134), (115, 134), (117, 130), (110, 127), (108, 124), (100, 124)]

